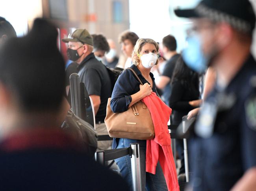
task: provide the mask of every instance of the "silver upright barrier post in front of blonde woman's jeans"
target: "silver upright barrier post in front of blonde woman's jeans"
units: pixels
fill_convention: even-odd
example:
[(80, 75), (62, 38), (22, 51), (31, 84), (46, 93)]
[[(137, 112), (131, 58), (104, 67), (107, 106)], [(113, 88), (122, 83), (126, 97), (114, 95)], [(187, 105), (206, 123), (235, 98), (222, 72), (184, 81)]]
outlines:
[(139, 144), (130, 144), (132, 147), (131, 165), (132, 165), (132, 186), (134, 191), (141, 189), (141, 162), (139, 155)]

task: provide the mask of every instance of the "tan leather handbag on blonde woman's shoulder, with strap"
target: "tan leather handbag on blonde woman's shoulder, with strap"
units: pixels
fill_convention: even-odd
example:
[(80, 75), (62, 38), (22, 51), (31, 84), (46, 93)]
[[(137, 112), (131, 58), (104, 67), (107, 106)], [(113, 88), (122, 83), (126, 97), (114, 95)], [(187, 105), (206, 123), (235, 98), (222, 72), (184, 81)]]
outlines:
[[(142, 82), (132, 68), (130, 69), (141, 85)], [(139, 101), (127, 111), (122, 113), (113, 113), (110, 108), (111, 98), (108, 98), (107, 115), (105, 124), (110, 137), (130, 138), (147, 140), (155, 137), (154, 125), (147, 106)]]

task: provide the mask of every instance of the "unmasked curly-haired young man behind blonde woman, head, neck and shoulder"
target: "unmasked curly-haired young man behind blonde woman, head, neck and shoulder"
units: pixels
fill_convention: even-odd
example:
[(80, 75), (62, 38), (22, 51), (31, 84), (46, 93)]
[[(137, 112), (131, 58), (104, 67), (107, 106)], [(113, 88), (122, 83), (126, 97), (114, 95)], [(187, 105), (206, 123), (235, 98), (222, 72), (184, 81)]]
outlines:
[(127, 56), (127, 60), (124, 65), (118, 65), (118, 67), (125, 69), (132, 65), (132, 51), (138, 39), (139, 36), (130, 31), (124, 31), (119, 35), (119, 43), (122, 46), (121, 50)]

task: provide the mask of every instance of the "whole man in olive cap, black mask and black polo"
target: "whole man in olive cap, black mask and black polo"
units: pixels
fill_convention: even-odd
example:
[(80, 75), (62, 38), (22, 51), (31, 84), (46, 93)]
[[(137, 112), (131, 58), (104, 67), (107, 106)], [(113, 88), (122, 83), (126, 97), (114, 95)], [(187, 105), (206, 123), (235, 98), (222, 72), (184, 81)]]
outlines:
[[(104, 119), (108, 98), (111, 97), (111, 80), (106, 67), (93, 54), (93, 37), (86, 29), (76, 29), (68, 38), (67, 55), (78, 63), (80, 81), (85, 84), (89, 96), (93, 100), (96, 131), (98, 135), (108, 135)], [(111, 149), (112, 141), (98, 142), (98, 149)]]

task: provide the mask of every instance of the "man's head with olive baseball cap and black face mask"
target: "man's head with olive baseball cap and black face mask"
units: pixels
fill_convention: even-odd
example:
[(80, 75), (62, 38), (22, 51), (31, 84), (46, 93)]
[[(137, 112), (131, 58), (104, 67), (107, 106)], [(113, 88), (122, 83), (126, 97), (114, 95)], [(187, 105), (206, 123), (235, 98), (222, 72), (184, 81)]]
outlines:
[(86, 29), (76, 29), (62, 41), (68, 43), (67, 55), (69, 59), (78, 64), (93, 52), (93, 37)]

